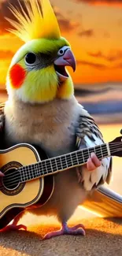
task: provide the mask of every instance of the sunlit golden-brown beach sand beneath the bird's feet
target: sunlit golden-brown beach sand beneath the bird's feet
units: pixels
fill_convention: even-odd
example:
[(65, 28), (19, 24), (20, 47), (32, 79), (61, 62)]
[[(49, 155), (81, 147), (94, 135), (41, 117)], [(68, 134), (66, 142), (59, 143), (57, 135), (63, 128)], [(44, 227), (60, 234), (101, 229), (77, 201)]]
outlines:
[[(59, 226), (29, 226), (28, 232), (0, 233), (0, 256), (121, 256), (122, 219), (88, 218), (85, 237), (60, 236), (42, 240), (42, 236)], [(75, 223), (76, 224), (76, 223)]]

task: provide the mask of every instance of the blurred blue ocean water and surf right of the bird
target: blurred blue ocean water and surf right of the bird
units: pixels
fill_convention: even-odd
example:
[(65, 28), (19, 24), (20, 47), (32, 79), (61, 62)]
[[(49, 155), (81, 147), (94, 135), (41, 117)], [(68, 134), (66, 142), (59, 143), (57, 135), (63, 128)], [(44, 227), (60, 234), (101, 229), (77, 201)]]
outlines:
[(80, 87), (76, 98), (99, 124), (122, 122), (122, 85)]

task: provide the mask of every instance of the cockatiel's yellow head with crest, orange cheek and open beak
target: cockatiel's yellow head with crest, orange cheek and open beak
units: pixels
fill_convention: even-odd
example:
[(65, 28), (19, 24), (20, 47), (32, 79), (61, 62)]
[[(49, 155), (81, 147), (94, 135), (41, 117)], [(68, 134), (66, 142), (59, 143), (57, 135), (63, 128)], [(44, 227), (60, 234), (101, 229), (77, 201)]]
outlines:
[(24, 5), (23, 9), (20, 4), (22, 13), (11, 6), (18, 23), (8, 19), (17, 28), (11, 32), (25, 42), (9, 66), (9, 97), (32, 103), (71, 98), (73, 83), (65, 67), (75, 71), (76, 60), (68, 41), (61, 37), (49, 0), (25, 0)]

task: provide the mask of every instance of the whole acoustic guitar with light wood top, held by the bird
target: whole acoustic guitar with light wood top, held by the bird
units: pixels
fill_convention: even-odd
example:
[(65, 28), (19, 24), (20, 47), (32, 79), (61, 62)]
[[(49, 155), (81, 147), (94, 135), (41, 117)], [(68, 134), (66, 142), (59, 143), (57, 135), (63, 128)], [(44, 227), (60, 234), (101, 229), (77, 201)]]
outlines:
[(35, 147), (21, 143), (0, 150), (0, 229), (5, 228), (21, 211), (41, 207), (54, 191), (54, 174), (87, 163), (94, 152), (99, 159), (122, 156), (122, 136), (110, 143), (76, 150), (70, 154), (41, 161)]

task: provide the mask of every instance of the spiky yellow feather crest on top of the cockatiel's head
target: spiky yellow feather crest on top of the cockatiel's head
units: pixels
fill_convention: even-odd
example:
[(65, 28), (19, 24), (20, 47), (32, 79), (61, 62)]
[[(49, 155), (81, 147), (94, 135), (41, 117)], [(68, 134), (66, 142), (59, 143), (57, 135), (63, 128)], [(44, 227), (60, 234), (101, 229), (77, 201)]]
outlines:
[(12, 5), (9, 7), (16, 18), (16, 20), (6, 18), (15, 28), (9, 29), (9, 32), (17, 35), (24, 42), (40, 38), (60, 38), (60, 28), (50, 0), (24, 0), (21, 3), (19, 1), (19, 5), (20, 10)]

